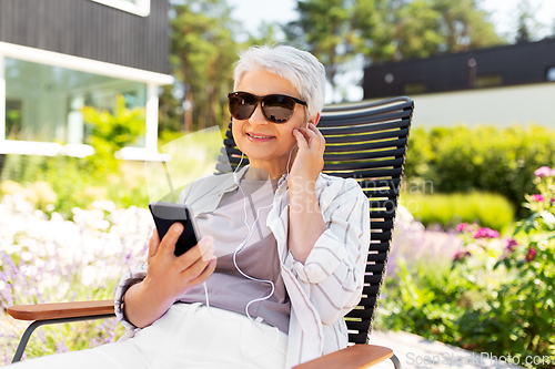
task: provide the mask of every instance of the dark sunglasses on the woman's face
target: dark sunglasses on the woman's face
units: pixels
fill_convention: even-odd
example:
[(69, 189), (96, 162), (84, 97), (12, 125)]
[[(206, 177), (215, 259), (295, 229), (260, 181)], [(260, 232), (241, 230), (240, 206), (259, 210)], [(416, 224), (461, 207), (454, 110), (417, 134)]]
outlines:
[(248, 120), (260, 103), (262, 114), (272, 123), (285, 123), (295, 110), (295, 103), (306, 106), (302, 100), (280, 94), (256, 96), (249, 92), (238, 91), (228, 95), (230, 113), (236, 120)]

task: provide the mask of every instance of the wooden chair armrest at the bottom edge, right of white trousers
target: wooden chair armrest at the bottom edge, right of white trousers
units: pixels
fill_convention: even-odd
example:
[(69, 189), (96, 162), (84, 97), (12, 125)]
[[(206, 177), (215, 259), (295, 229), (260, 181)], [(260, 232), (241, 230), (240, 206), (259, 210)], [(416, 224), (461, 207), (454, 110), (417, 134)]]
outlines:
[(293, 369), (365, 369), (393, 356), (393, 350), (374, 345), (353, 345), (301, 363)]

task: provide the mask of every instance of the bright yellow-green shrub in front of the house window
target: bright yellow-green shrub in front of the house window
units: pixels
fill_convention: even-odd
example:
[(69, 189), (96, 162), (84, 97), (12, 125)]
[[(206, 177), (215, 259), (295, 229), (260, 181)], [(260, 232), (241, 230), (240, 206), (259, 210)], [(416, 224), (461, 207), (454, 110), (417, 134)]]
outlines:
[(94, 172), (109, 174), (118, 167), (114, 153), (134, 143), (145, 133), (144, 109), (125, 107), (125, 99), (118, 95), (113, 113), (83, 106), (84, 121), (92, 125), (90, 144), (94, 154), (88, 156)]

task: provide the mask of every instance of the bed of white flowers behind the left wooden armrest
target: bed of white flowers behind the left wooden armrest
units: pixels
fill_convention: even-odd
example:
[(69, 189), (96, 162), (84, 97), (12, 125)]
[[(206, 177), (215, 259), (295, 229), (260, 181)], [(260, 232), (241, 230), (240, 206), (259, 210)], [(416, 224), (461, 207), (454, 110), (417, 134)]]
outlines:
[[(143, 257), (152, 232), (148, 209), (117, 209), (95, 202), (93, 209), (73, 209), (73, 222), (53, 212), (47, 216), (20, 195), (0, 202), (0, 361), (8, 363), (26, 321), (6, 314), (17, 304), (113, 298), (119, 278)], [(113, 341), (123, 329), (115, 319), (39, 329), (28, 357)]]

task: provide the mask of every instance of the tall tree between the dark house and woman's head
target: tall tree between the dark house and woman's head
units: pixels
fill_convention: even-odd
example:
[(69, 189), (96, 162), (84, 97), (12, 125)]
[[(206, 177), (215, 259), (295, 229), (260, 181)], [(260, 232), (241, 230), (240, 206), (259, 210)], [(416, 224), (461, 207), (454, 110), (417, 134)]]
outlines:
[(185, 0), (173, 10), (171, 62), (183, 89), (182, 130), (221, 125), (238, 49), (230, 8), (224, 0)]

